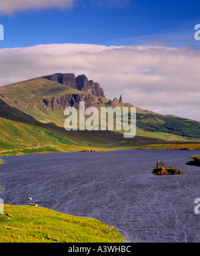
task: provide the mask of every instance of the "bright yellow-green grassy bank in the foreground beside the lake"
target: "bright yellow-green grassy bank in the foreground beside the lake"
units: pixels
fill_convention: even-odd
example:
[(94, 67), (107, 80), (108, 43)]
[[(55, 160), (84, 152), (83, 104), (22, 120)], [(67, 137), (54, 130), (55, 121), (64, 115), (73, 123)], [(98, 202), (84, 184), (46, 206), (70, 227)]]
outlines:
[(0, 243), (116, 243), (123, 239), (119, 231), (96, 219), (16, 205), (5, 205), (0, 233)]

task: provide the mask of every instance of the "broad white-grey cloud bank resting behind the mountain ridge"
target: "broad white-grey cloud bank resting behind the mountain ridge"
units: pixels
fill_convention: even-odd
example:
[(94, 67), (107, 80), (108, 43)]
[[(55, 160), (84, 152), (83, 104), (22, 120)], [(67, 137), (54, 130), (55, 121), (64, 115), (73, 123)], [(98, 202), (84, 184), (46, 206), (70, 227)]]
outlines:
[(0, 86), (56, 72), (85, 74), (105, 95), (200, 121), (200, 52), (151, 45), (51, 44), (0, 49)]

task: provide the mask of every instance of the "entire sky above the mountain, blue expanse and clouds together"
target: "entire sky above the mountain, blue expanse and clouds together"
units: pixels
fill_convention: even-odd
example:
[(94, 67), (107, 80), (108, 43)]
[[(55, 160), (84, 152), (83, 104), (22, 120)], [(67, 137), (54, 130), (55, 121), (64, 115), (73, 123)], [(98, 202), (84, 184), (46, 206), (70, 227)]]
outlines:
[(200, 121), (199, 0), (1, 0), (0, 86), (85, 74), (107, 98)]

